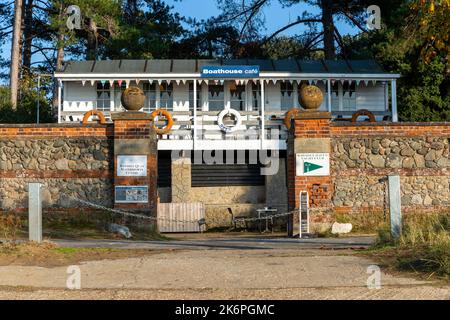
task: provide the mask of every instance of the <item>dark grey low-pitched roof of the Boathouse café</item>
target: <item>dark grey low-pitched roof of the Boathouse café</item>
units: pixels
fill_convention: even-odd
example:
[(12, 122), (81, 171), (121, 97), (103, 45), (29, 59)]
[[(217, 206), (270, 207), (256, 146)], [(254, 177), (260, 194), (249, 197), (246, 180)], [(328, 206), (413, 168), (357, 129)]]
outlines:
[(374, 60), (101, 60), (70, 61), (66, 74), (199, 73), (203, 66), (258, 65), (261, 72), (290, 73), (386, 73)]

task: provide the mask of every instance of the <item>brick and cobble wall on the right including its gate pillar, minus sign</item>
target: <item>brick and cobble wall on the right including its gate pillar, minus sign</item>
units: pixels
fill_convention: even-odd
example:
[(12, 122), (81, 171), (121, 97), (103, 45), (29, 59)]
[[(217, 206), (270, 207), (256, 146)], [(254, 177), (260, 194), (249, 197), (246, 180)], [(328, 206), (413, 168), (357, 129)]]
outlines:
[(298, 207), (298, 192), (303, 189), (309, 191), (316, 212), (384, 210), (386, 185), (380, 178), (398, 174), (405, 212), (450, 210), (450, 123), (327, 123), (296, 118), (288, 145), (296, 139), (327, 136), (330, 177), (295, 177), (295, 155), (288, 154), (291, 208)]

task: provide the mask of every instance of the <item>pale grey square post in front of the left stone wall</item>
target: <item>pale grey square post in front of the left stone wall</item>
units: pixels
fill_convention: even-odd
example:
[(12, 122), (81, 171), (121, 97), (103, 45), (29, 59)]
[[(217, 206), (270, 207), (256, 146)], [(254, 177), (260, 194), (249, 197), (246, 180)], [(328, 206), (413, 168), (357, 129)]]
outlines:
[(42, 242), (41, 184), (28, 184), (28, 234), (30, 241)]

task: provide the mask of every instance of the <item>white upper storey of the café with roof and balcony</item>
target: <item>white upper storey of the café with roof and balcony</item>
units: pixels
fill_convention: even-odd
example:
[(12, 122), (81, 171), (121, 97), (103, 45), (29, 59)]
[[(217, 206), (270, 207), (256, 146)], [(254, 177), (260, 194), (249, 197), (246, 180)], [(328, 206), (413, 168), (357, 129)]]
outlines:
[[(230, 75), (223, 71), (252, 67), (258, 72)], [(378, 120), (398, 119), (399, 75), (383, 72), (370, 60), (77, 61), (67, 63), (55, 77), (59, 122), (78, 122), (93, 109), (109, 119), (111, 112), (123, 110), (123, 90), (139, 86), (147, 97), (143, 112), (166, 109), (175, 121), (172, 131), (160, 137), (160, 150), (285, 149), (283, 119), (289, 109), (301, 108), (298, 86), (302, 81), (321, 88), (320, 110), (332, 112), (334, 118), (367, 109)], [(217, 116), (224, 109), (234, 109), (241, 116), (239, 128), (232, 133), (218, 126)]]

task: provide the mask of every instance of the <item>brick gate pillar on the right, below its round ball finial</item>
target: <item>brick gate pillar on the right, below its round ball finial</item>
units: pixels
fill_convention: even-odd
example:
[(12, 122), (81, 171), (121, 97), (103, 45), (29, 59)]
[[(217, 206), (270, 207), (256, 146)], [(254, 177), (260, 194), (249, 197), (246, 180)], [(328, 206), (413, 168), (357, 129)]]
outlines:
[[(330, 138), (331, 113), (302, 112), (292, 120), (288, 139), (287, 181), (289, 210), (299, 208), (299, 194), (307, 191), (310, 208), (331, 206), (332, 183), (330, 175), (296, 175), (297, 154), (328, 153), (331, 151)], [(314, 211), (314, 210), (312, 210)], [(289, 234), (295, 235), (298, 216), (291, 215)]]

